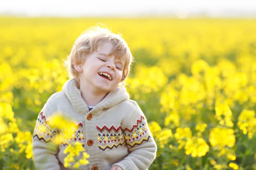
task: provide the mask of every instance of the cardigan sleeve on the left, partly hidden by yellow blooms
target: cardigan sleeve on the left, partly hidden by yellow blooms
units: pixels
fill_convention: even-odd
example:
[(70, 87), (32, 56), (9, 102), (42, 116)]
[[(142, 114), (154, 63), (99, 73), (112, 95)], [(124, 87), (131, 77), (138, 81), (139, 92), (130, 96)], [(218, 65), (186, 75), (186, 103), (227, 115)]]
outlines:
[(47, 121), (50, 111), (47, 104), (38, 115), (32, 139), (33, 160), (36, 170), (60, 170), (56, 154), (58, 145), (52, 144), (51, 139), (55, 135)]

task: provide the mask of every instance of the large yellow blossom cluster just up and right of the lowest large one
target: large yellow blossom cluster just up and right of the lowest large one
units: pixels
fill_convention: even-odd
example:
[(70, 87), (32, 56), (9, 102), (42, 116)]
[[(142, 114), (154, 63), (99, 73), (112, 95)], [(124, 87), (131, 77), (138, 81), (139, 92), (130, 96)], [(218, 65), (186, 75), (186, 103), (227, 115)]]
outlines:
[(212, 147), (233, 147), (236, 143), (234, 130), (224, 127), (215, 127), (210, 130), (209, 142)]

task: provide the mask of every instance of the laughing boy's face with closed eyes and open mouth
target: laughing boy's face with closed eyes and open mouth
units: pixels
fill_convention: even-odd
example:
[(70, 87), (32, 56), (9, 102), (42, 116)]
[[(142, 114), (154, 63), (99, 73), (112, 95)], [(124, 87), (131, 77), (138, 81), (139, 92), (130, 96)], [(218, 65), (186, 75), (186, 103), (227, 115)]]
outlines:
[(111, 43), (105, 42), (98, 51), (87, 55), (79, 71), (80, 85), (87, 90), (106, 93), (117, 87), (122, 79), (124, 62), (116, 59), (115, 56), (108, 56), (112, 48)]

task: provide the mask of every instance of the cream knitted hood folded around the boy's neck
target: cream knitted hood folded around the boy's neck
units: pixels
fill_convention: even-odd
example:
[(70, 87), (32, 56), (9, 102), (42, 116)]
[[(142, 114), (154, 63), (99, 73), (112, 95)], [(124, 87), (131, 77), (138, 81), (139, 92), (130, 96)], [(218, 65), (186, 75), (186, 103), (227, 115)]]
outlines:
[[(76, 110), (79, 113), (86, 114), (89, 112), (89, 109), (81, 96), (81, 91), (77, 87), (78, 82), (76, 79), (69, 79), (62, 87), (62, 90)], [(111, 108), (126, 99), (129, 99), (129, 94), (126, 92), (126, 88), (117, 87), (113, 91), (110, 91), (109, 94), (105, 96), (105, 98), (102, 99), (102, 101), (99, 102), (92, 111)]]

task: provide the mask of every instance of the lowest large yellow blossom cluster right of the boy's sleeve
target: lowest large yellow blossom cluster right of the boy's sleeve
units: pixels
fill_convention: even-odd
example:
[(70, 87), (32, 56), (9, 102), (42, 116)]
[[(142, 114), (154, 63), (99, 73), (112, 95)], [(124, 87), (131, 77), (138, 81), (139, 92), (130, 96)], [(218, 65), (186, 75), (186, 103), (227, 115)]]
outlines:
[(186, 155), (191, 154), (192, 157), (202, 157), (209, 152), (209, 146), (204, 139), (193, 137), (186, 141), (185, 150)]

